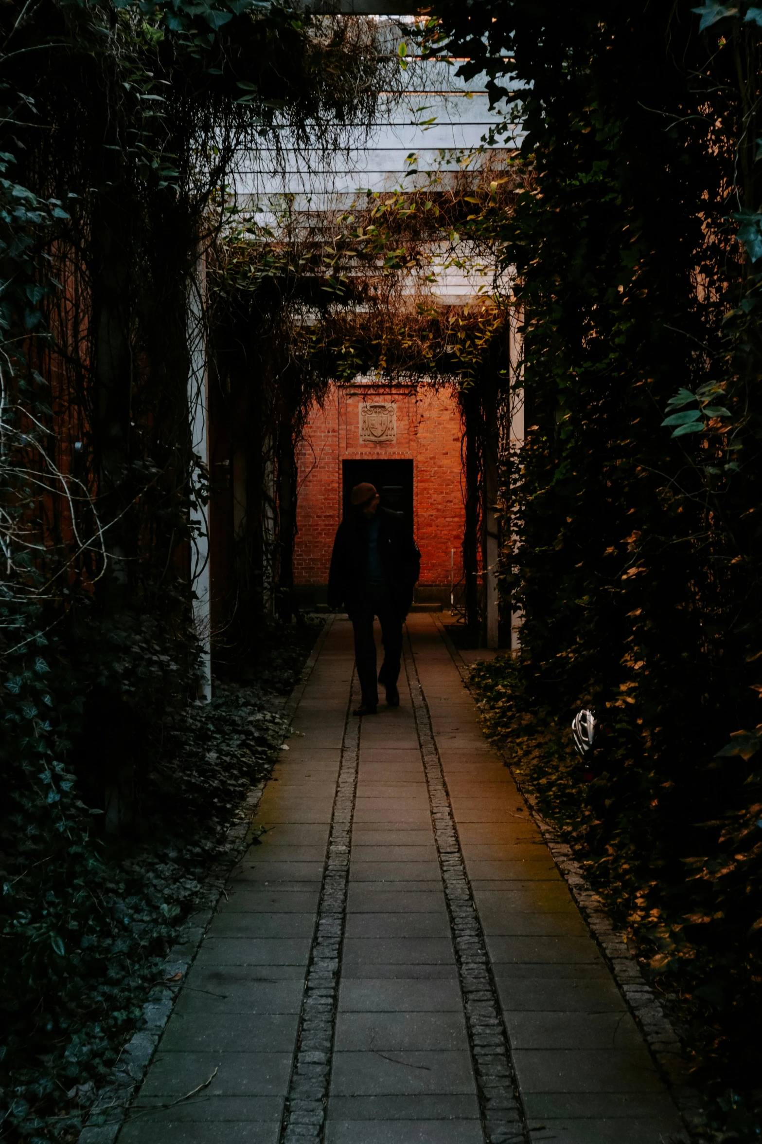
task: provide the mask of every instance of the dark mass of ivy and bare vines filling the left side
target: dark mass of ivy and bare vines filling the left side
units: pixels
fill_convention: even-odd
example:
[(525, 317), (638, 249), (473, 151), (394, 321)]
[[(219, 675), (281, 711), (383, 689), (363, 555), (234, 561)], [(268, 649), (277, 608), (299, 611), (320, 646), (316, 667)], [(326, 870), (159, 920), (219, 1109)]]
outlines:
[(286, 109), (335, 149), (380, 63), (369, 22), (257, 0), (0, 11), (3, 1139), (77, 1138), (282, 734), (193, 706), (187, 291), (241, 151)]

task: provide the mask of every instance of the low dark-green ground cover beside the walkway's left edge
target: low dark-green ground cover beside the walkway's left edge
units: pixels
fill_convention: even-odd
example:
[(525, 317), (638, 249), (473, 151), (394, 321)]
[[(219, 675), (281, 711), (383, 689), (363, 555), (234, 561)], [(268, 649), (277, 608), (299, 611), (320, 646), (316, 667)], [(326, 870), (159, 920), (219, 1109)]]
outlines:
[[(144, 760), (133, 819), (118, 837), (87, 804), (81, 681), (66, 680), (72, 639), (63, 662), (64, 649), (50, 639), (31, 674), (6, 681), (1, 1139), (77, 1139), (120, 1051), (145, 1024), (143, 1006), (163, 984), (163, 959), (182, 940), (210, 865), (224, 859), (234, 811), (288, 737), (283, 693), (318, 630), (273, 631), (270, 654), (246, 669), (246, 683), (217, 683), (209, 704), (170, 706), (153, 722), (143, 744), (150, 766)], [(129, 635), (130, 656), (154, 659), (142, 678), (155, 684), (166, 656), (145, 635)], [(18, 747), (35, 704), (47, 708), (47, 726), (37, 721), (30, 766)], [(26, 844), (14, 853), (8, 842), (19, 831)]]

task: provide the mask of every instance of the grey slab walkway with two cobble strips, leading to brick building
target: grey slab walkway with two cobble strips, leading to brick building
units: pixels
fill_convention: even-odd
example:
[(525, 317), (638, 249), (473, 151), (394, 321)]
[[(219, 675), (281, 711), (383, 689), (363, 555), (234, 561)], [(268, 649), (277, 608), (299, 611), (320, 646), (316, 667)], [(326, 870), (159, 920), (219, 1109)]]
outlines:
[(401, 707), (360, 721), (332, 622), (120, 1144), (683, 1138), (434, 621), (408, 634)]

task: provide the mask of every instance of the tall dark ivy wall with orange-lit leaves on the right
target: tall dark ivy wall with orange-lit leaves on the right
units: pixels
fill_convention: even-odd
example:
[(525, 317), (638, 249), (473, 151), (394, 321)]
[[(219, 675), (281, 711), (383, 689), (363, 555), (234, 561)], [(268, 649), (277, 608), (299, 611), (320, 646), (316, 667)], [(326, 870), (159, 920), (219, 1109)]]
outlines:
[[(690, 995), (709, 1073), (722, 1059), (753, 1099), (762, 16), (688, 0), (439, 10), (433, 50), (471, 57), (495, 97), (523, 86), (528, 183), (510, 216), (471, 221), (515, 268), (524, 337), (503, 577), (524, 627), (519, 676), (506, 667), (492, 699), (563, 739), (595, 707), (605, 748), (569, 779), (576, 841), (651, 971)], [(553, 758), (548, 807), (569, 793)]]

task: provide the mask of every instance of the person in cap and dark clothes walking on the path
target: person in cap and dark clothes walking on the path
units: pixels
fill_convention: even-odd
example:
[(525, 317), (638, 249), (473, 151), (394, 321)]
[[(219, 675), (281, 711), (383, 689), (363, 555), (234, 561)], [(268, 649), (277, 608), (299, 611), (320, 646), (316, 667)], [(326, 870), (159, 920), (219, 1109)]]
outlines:
[[(375, 487), (363, 482), (351, 494), (352, 513), (336, 532), (328, 575), (328, 606), (342, 606), (354, 628), (354, 660), (361, 702), (353, 715), (375, 715), (378, 684), (390, 707), (400, 706), (396, 681), (402, 656), (402, 623), (420, 574), (420, 551), (401, 513), (379, 508)], [(376, 676), (374, 618), (378, 617), (384, 662)]]

